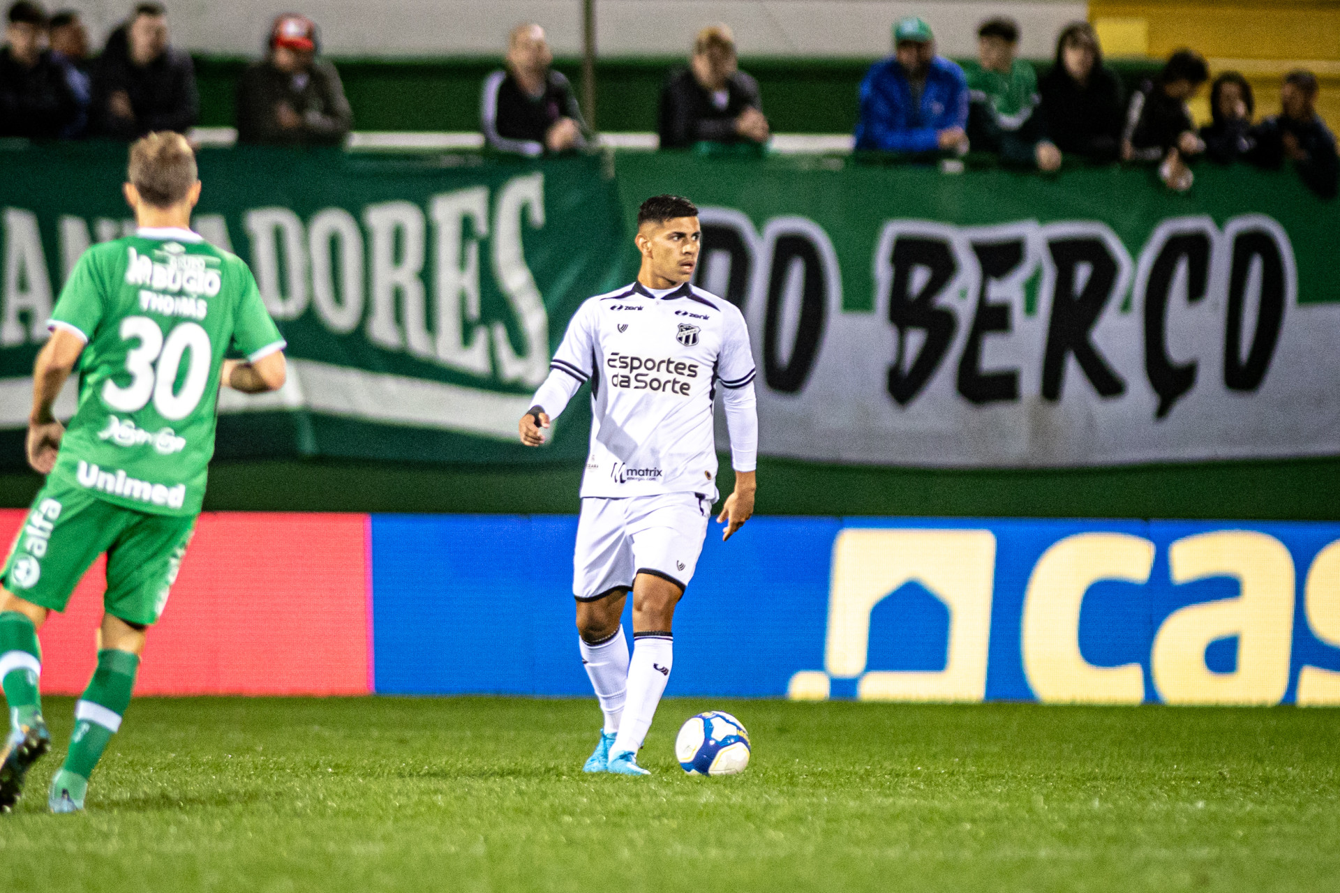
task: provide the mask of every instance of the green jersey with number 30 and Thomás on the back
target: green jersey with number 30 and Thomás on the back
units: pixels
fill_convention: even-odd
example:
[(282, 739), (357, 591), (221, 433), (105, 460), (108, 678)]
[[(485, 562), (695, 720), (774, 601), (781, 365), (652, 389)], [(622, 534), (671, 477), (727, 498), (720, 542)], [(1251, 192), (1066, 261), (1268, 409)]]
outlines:
[(84, 341), (55, 482), (153, 514), (200, 513), (225, 353), (284, 348), (251, 270), (185, 229), (94, 245), (51, 313)]

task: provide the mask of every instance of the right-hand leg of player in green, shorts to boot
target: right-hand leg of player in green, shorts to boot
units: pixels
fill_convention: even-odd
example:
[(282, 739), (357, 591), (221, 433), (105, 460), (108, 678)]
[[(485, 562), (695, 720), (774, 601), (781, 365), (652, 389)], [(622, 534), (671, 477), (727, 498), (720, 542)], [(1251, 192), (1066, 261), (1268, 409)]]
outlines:
[(98, 668), (75, 703), (70, 750), (60, 771), (51, 779), (48, 802), (54, 813), (83, 809), (92, 770), (111, 736), (121, 730), (121, 719), (130, 707), (139, 655), (145, 648), (145, 629), (158, 620), (168, 605), (196, 523), (192, 517), (121, 511), (127, 521), (107, 549), (106, 613)]

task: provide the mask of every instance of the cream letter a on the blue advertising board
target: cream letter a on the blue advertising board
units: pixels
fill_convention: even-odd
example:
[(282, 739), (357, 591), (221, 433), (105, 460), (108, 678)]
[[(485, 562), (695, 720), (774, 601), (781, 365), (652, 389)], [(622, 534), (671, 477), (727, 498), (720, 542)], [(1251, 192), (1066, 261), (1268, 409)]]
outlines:
[[(1231, 577), (1240, 592), (1172, 612), (1154, 637), (1154, 685), (1167, 704), (1278, 704), (1289, 687), (1293, 558), (1282, 542), (1253, 530), (1221, 530), (1168, 548), (1172, 582)], [(1211, 672), (1210, 643), (1238, 637), (1238, 665)]]

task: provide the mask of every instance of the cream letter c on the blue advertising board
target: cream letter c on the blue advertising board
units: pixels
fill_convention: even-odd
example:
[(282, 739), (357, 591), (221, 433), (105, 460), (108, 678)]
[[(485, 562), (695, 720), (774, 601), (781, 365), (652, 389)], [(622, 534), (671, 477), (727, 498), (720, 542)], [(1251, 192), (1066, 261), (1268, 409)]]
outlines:
[(1154, 544), (1124, 533), (1080, 533), (1037, 560), (1024, 596), (1024, 671), (1044, 703), (1139, 704), (1139, 664), (1095, 667), (1080, 653), (1080, 606), (1100, 580), (1148, 582)]

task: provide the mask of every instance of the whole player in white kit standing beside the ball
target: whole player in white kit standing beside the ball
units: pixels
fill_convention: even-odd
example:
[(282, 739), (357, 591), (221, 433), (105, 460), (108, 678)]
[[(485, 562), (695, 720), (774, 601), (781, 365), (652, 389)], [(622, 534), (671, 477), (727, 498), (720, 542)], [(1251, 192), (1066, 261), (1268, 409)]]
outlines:
[[(582, 663), (604, 712), (588, 773), (647, 775), (636, 755), (670, 679), (674, 606), (693, 578), (717, 501), (713, 404), (730, 432), (736, 489), (722, 540), (753, 514), (758, 418), (740, 311), (690, 284), (698, 209), (655, 195), (638, 209), (642, 269), (631, 285), (578, 308), (549, 378), (521, 416), (521, 442), (591, 382), (591, 451), (582, 478), (572, 593)], [(632, 590), (632, 657), (620, 617)]]

